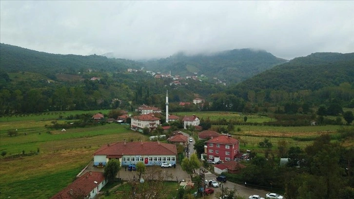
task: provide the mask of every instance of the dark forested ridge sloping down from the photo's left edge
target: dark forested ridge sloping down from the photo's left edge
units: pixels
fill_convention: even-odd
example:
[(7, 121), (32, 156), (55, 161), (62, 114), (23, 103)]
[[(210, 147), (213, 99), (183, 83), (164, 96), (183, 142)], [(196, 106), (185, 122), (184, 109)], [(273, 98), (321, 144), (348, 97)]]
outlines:
[(87, 69), (97, 71), (126, 71), (140, 68), (141, 63), (124, 59), (108, 59), (103, 56), (59, 55), (18, 46), (0, 44), (2, 72), (36, 72), (41, 74), (77, 74)]

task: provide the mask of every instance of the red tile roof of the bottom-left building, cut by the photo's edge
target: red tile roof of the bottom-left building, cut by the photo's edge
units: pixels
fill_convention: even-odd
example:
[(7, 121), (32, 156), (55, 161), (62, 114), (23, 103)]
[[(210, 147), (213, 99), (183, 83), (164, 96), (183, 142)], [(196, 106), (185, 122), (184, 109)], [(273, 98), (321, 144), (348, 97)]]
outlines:
[[(95, 189), (104, 180), (101, 172), (87, 172), (78, 179), (76, 179), (69, 186), (54, 195), (51, 199), (73, 199), (83, 195), (88, 196), (90, 192)], [(95, 181), (97, 183), (95, 183)], [(72, 195), (70, 190), (72, 189)], [(81, 197), (82, 198), (82, 197)]]

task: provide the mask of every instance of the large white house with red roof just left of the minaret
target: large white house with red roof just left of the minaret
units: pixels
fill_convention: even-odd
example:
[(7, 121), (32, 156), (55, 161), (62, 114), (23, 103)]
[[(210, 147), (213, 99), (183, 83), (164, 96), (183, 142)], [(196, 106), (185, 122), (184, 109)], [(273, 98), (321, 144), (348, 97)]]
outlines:
[(149, 128), (151, 131), (156, 129), (159, 125), (160, 119), (155, 117), (155, 114), (149, 113), (133, 117), (130, 128), (134, 131), (142, 132), (144, 128)]

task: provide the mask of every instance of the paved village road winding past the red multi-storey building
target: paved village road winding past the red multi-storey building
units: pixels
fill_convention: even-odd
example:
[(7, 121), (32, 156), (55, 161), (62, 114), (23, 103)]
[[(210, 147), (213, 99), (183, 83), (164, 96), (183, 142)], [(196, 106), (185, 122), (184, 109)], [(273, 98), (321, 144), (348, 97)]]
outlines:
[[(180, 131), (184, 136), (187, 136), (188, 138), (190, 138), (189, 134), (187, 133), (184, 133), (182, 131)], [(189, 145), (188, 145), (188, 148), (189, 148), (189, 154), (187, 155), (186, 153), (186, 157), (190, 157), (190, 155), (192, 155), (194, 153), (194, 143), (195, 143), (195, 140), (194, 138), (193, 139), (193, 142), (190, 142)], [(189, 141), (189, 139), (188, 139)], [(211, 172), (208, 172), (205, 174), (205, 179), (206, 180), (216, 180), (216, 175), (214, 175), (213, 173)], [(249, 196), (251, 195), (259, 195), (260, 197), (264, 198), (265, 197), (265, 194), (266, 193), (269, 193), (269, 192), (266, 192), (266, 191), (263, 191), (263, 190), (259, 190), (259, 189), (254, 189), (254, 188), (250, 188), (250, 187), (246, 187), (244, 184), (240, 185), (240, 184), (236, 184), (236, 183), (233, 183), (233, 182), (230, 182), (230, 181), (227, 181), (225, 183), (223, 183), (223, 187), (224, 188), (229, 188), (229, 189), (233, 189), (234, 187), (236, 186), (236, 190), (238, 191), (239, 195), (248, 199)], [(212, 189), (214, 189), (215, 192), (222, 192), (222, 188), (221, 187), (212, 187)], [(216, 198), (215, 196), (215, 193), (210, 195), (211, 197), (214, 197)]]

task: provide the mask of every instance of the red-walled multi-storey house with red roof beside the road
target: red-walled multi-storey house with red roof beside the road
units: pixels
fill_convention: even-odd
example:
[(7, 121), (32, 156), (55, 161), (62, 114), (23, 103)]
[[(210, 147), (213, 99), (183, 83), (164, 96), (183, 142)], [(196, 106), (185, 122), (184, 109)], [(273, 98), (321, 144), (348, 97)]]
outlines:
[(239, 140), (232, 138), (231, 135), (222, 134), (205, 142), (204, 149), (208, 159), (214, 161), (230, 161), (234, 160), (239, 154)]

